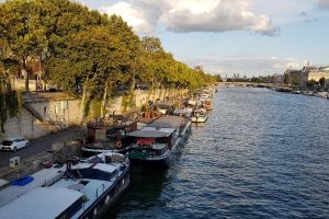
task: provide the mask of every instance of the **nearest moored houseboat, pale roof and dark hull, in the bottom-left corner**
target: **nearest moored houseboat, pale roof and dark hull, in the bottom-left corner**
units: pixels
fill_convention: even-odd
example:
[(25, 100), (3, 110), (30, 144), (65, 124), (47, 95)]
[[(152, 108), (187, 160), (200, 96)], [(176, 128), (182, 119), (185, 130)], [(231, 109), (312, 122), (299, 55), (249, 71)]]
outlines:
[(50, 185), (32, 187), (1, 206), (1, 218), (99, 218), (129, 184), (129, 163), (120, 153), (69, 160), (60, 173)]

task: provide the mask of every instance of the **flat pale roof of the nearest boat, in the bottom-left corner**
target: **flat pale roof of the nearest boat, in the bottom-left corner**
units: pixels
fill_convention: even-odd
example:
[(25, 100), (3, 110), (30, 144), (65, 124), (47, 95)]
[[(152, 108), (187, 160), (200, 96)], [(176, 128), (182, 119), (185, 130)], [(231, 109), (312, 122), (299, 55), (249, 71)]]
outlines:
[(83, 194), (61, 187), (37, 187), (0, 208), (7, 219), (56, 218)]

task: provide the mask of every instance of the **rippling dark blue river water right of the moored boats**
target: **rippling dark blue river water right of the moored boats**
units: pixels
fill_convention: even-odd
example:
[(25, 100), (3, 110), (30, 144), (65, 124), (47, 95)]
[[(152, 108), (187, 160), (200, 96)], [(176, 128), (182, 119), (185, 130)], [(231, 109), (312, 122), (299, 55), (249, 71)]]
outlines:
[(104, 218), (329, 218), (328, 100), (220, 88), (213, 106)]

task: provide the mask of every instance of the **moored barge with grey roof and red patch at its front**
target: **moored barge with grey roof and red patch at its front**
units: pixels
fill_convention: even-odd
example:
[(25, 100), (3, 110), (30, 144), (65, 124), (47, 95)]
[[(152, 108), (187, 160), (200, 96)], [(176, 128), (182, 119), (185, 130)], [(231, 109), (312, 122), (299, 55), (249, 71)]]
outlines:
[(128, 152), (132, 164), (167, 163), (190, 130), (188, 118), (163, 116), (140, 130), (127, 134), (132, 138)]

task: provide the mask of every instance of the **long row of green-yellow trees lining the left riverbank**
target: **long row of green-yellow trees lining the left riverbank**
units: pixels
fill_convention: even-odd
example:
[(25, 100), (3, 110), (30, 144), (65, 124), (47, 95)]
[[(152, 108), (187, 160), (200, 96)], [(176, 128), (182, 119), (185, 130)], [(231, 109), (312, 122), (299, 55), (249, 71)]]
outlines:
[[(122, 18), (101, 14), (69, 0), (10, 0), (0, 4), (5, 71), (19, 66), (29, 90), (36, 60), (43, 79), (81, 97), (81, 119), (92, 102), (104, 115), (118, 88), (194, 89), (216, 78), (177, 61), (156, 37), (139, 38)], [(5, 65), (4, 65), (5, 64)]]

